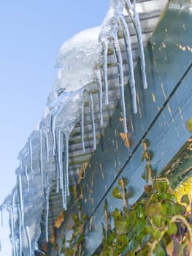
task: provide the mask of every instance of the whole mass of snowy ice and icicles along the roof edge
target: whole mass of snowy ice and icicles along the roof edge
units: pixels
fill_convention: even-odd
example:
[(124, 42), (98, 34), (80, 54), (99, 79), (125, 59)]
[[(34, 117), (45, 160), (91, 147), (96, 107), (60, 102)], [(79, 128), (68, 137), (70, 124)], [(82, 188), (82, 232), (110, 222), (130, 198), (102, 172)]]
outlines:
[[(118, 40), (122, 31), (131, 86), (132, 109), (137, 113), (134, 61), (131, 38), (126, 23), (131, 17), (137, 34), (141, 60), (143, 86), (147, 88), (142, 31), (135, 0), (111, 0), (104, 23), (87, 29), (64, 42), (57, 61), (58, 76), (53, 91), (47, 99), (42, 120), (20, 151), (20, 167), (17, 170), (18, 184), (7, 196), (2, 208), (9, 210), (12, 255), (32, 255), (37, 249), (37, 238), (41, 233), (42, 209), (45, 208), (45, 241), (49, 241), (48, 218), (49, 197), (53, 181), (56, 191), (61, 192), (63, 208), (67, 208), (69, 196), (69, 137), (77, 122), (80, 123), (82, 153), (84, 139), (84, 94), (89, 98), (93, 150), (96, 149), (96, 124), (94, 116), (95, 94), (89, 85), (96, 83), (99, 97), (100, 125), (104, 124), (104, 104), (110, 104), (108, 85), (108, 54), (113, 49), (118, 71), (120, 102), (123, 112), (123, 129), (126, 127), (126, 99), (124, 95), (123, 59)], [(64, 156), (64, 157), (63, 157)], [(55, 168), (53, 168), (53, 163)], [(1, 213), (2, 222), (2, 213)], [(24, 238), (23, 238), (24, 237)]]

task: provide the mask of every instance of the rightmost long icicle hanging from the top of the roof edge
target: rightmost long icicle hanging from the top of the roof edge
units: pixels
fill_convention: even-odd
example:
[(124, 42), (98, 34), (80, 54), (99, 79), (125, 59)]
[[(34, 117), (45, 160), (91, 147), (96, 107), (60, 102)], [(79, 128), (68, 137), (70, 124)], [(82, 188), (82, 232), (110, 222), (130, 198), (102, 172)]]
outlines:
[(141, 29), (141, 23), (139, 20), (139, 14), (136, 10), (136, 1), (133, 0), (133, 10), (134, 10), (134, 26), (137, 34), (137, 40), (138, 40), (138, 47), (139, 47), (139, 56), (141, 60), (141, 69), (142, 69), (142, 83), (143, 88), (147, 89), (147, 78), (145, 73), (145, 55), (144, 55), (144, 48), (143, 48), (143, 42), (142, 42), (142, 29)]

